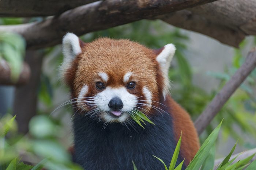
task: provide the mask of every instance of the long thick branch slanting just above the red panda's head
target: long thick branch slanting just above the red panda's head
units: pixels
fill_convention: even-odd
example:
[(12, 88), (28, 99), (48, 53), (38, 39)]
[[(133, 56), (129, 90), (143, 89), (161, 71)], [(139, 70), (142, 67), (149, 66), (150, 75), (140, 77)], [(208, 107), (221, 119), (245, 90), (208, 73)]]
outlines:
[(215, 0), (97, 1), (71, 9), (44, 22), (1, 26), (0, 31), (17, 32), (25, 37), (28, 49), (36, 49), (60, 43), (68, 31), (83, 35), (213, 1)]

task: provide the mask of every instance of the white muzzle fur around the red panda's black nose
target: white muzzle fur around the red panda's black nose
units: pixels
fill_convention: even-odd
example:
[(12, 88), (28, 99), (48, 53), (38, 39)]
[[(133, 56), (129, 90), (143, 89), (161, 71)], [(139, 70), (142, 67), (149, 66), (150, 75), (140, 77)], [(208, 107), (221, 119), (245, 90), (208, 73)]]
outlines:
[[(122, 100), (124, 107), (121, 109), (121, 112), (123, 113), (121, 116), (113, 117), (109, 115), (109, 113), (104, 112), (110, 112), (111, 109), (109, 108), (108, 104), (109, 101), (114, 98), (118, 97)], [(94, 103), (97, 105), (97, 108), (101, 109), (103, 114), (102, 117), (105, 119), (105, 121), (113, 122), (123, 122), (127, 119), (128, 114), (125, 112), (129, 112), (136, 106), (138, 100), (137, 97), (127, 91), (126, 88), (111, 88), (107, 87), (102, 92), (98, 93), (94, 97)], [(110, 113), (111, 114), (111, 113)]]

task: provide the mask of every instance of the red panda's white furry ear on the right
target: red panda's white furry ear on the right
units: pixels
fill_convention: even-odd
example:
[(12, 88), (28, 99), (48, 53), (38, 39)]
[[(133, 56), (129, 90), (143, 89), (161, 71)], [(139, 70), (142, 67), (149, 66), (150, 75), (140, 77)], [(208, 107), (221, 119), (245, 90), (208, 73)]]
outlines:
[(173, 59), (173, 55), (175, 53), (175, 46), (173, 44), (167, 44), (163, 47), (163, 50), (161, 51), (160, 54), (158, 54), (156, 60), (160, 65), (160, 69), (163, 74), (164, 78), (164, 87), (163, 87), (163, 97), (166, 97), (166, 94), (169, 93), (170, 89), (170, 82), (169, 82), (169, 67), (171, 64), (171, 61)]

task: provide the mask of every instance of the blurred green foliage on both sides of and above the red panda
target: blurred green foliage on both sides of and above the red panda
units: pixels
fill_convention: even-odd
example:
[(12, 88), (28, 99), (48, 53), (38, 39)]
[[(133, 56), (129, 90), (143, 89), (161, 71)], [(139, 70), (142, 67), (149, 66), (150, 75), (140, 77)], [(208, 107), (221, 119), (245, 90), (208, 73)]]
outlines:
[[(32, 20), (41, 20), (42, 18), (33, 18)], [(24, 22), (22, 18), (1, 18), (0, 24), (20, 24)], [(8, 33), (9, 34), (9, 33)], [(12, 71), (18, 74), (17, 70), (22, 63), (22, 56), (24, 54), (25, 43), (22, 38), (18, 38), (18, 35), (13, 34), (18, 40), (18, 45), (12, 44), (16, 42), (13, 38), (10, 42), (6, 38), (2, 38), (0, 33), (0, 58), (4, 58), (6, 61), (14, 65)], [(173, 98), (182, 105), (195, 119), (206, 105), (212, 100), (217, 92), (223, 87), (223, 85), (230, 79), (230, 77), (236, 72), (236, 70), (244, 62), (242, 55), (242, 49), (246, 45), (246, 41), (241, 43), (240, 49), (234, 50), (233, 63), (231, 66), (226, 67), (225, 72), (215, 73), (208, 72), (207, 75), (219, 80), (219, 85), (212, 92), (207, 93), (202, 88), (193, 84), (193, 71), (190, 66), (185, 51), (187, 50), (187, 44), (189, 38), (177, 28), (170, 27), (159, 20), (149, 21), (141, 20), (123, 26), (110, 28), (107, 30), (91, 32), (81, 38), (85, 42), (90, 42), (98, 37), (110, 37), (110, 38), (127, 38), (133, 41), (139, 42), (147, 47), (157, 49), (165, 46), (167, 43), (173, 43), (176, 45), (177, 51), (174, 57), (174, 63), (170, 68), (169, 78), (170, 80), (178, 84), (172, 88)], [(12, 51), (16, 51), (19, 54), (13, 54), (12, 52), (3, 52), (2, 43), (10, 43)], [(256, 39), (255, 39), (256, 44)], [(61, 119), (66, 114), (72, 113), (70, 105), (63, 105), (53, 114), (50, 113), (56, 109), (65, 100), (56, 103), (59, 91), (63, 92), (63, 87), (57, 77), (58, 67), (62, 61), (61, 47), (60, 45), (50, 47), (44, 50), (44, 67), (41, 75), (41, 83), (38, 89), (38, 98), (40, 101), (40, 107), (38, 109), (38, 116), (31, 119), (29, 128), (29, 134), (22, 136), (17, 133), (17, 125), (13, 120), (12, 125), (9, 128), (9, 133), (4, 138), (0, 139), (0, 170), (7, 168), (10, 163), (20, 165), (19, 155), (22, 155), (22, 160), (29, 160), (33, 165), (40, 166), (39, 163), (43, 163), (45, 167), (49, 169), (80, 169), (77, 165), (74, 165), (71, 161), (71, 155), (67, 152), (67, 143), (64, 143), (61, 139), (64, 139), (67, 135), (65, 127), (69, 122), (62, 122)], [(15, 52), (14, 52), (15, 53)], [(3, 55), (5, 54), (5, 55)], [(7, 54), (7, 55), (6, 55)], [(10, 57), (8, 54), (13, 54)], [(16, 58), (14, 58), (16, 56)], [(17, 57), (18, 56), (18, 57)], [(17, 67), (16, 67), (17, 66)], [(246, 79), (236, 93), (229, 99), (226, 105), (221, 109), (214, 121), (207, 127), (206, 133), (202, 136), (202, 141), (206, 139), (208, 135), (214, 130), (216, 124), (221, 122), (223, 117), (225, 121), (222, 124), (222, 137), (224, 141), (230, 135), (234, 139), (240, 138), (237, 130), (244, 132), (256, 138), (256, 70)], [(68, 93), (66, 89), (64, 91)], [(67, 112), (68, 110), (68, 112)], [(58, 112), (58, 114), (56, 114)], [(50, 115), (50, 116), (49, 116)], [(6, 124), (11, 120), (10, 115), (5, 115), (1, 121), (0, 126)], [(1, 129), (1, 128), (0, 128)], [(243, 138), (240, 138), (240, 143), (244, 144), (247, 148), (256, 147), (253, 143), (243, 143)], [(221, 141), (223, 142), (223, 141)], [(69, 143), (70, 144), (70, 143)], [(210, 153), (213, 153), (210, 151)], [(211, 154), (209, 154), (211, 156)], [(210, 157), (209, 160), (214, 158)], [(15, 160), (16, 158), (16, 160)], [(56, 159), (58, 158), (58, 159)], [(22, 165), (20, 165), (22, 166)], [(36, 167), (37, 168), (37, 167)]]

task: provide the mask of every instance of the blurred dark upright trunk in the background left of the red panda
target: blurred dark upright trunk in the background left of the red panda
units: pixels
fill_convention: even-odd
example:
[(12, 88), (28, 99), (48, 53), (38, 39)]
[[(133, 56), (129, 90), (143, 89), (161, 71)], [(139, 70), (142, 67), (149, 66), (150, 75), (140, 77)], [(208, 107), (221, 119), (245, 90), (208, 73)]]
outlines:
[(29, 120), (37, 111), (37, 94), (43, 54), (41, 51), (26, 51), (25, 61), (31, 68), (31, 77), (26, 85), (15, 89), (13, 111), (16, 114), (18, 130), (23, 134), (29, 131)]

